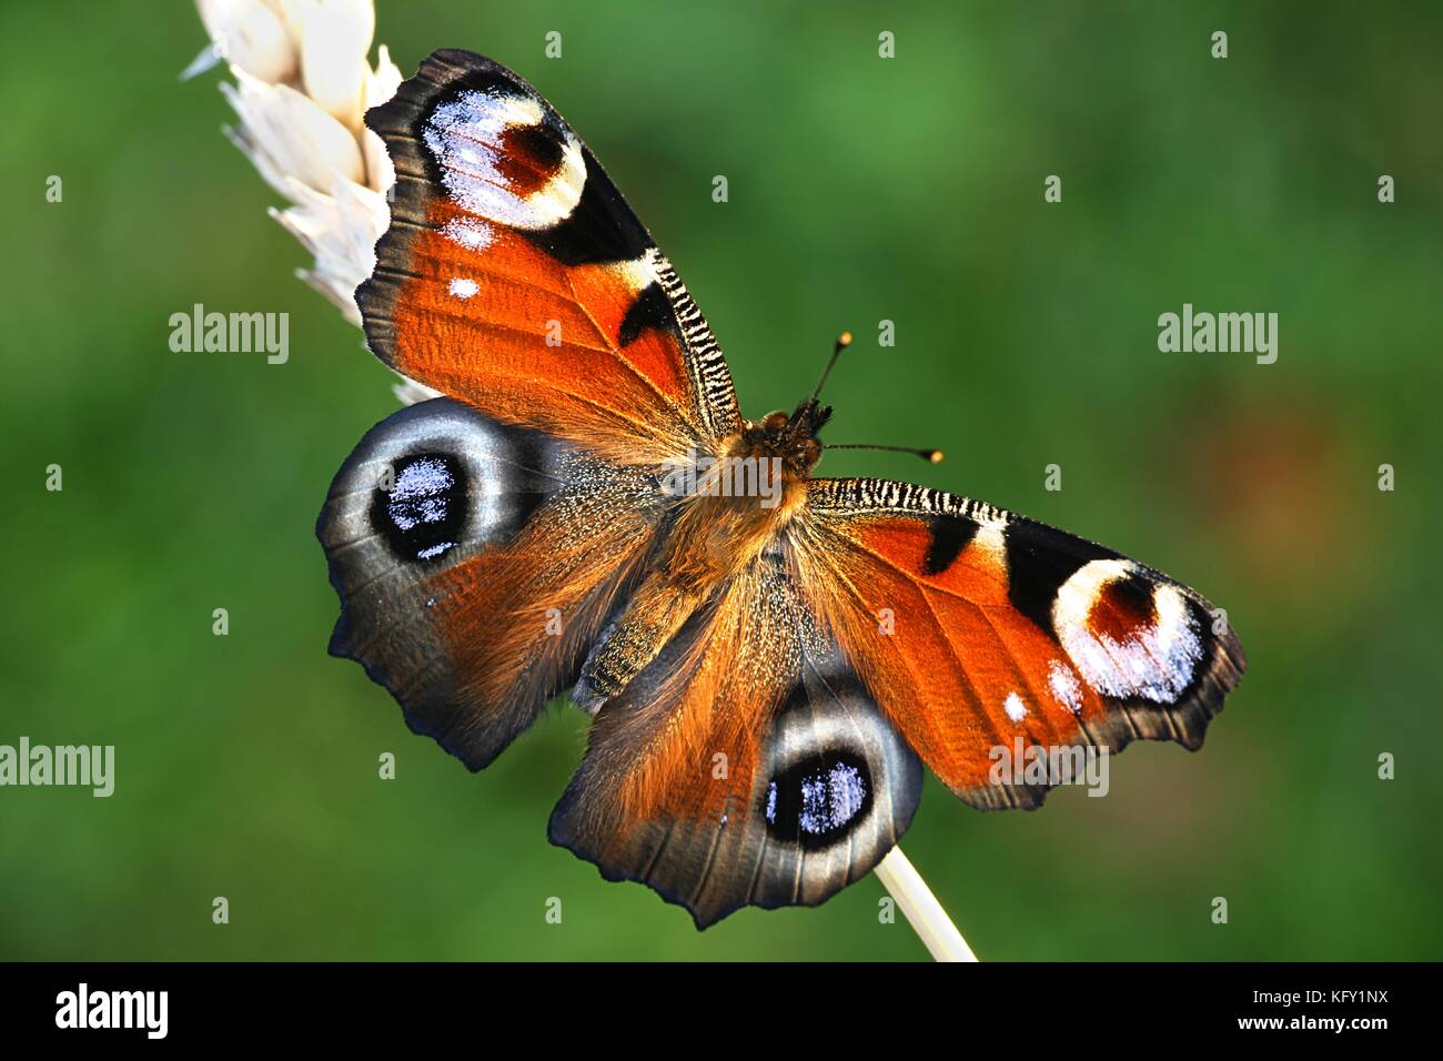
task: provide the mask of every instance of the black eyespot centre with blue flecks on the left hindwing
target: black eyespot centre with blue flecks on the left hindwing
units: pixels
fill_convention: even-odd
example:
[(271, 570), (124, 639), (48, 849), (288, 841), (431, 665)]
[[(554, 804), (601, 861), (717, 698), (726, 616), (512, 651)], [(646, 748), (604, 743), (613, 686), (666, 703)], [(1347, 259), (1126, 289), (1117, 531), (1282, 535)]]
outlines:
[(466, 472), (447, 453), (417, 453), (375, 489), (371, 525), (405, 560), (434, 560), (456, 547), (466, 524)]

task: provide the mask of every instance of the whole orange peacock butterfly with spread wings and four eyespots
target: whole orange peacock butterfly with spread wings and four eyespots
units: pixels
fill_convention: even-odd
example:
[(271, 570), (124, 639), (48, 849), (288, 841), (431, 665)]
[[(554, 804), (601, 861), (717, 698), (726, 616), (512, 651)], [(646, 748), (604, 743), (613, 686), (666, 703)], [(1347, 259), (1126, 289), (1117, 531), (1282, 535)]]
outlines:
[(446, 397), (377, 424), (317, 533), (332, 651), (468, 767), (567, 693), (550, 837), (698, 925), (817, 904), (906, 830), (924, 765), (981, 808), (1016, 741), (1202, 743), (1241, 676), (1195, 590), (980, 501), (814, 475), (830, 409), (740, 416), (690, 293), (528, 84), (437, 52), (368, 124), (397, 167), (356, 292)]

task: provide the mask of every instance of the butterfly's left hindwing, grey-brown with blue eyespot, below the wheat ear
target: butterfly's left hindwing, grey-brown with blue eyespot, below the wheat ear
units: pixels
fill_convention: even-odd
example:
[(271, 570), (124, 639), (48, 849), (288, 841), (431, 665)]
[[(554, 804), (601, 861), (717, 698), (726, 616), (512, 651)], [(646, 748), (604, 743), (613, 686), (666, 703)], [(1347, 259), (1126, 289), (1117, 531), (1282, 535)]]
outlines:
[(377, 424), (317, 524), (342, 614), (332, 652), (407, 722), (491, 762), (574, 680), (661, 518), (644, 476), (450, 398)]

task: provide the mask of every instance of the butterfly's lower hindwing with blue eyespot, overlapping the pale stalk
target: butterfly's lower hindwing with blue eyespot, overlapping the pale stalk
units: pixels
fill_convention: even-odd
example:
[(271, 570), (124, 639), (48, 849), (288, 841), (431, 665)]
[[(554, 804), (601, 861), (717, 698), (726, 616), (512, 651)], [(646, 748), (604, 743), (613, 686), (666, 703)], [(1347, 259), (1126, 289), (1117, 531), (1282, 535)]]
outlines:
[(922, 767), (760, 560), (698, 611), (592, 726), (551, 840), (706, 927), (815, 905), (906, 830)]

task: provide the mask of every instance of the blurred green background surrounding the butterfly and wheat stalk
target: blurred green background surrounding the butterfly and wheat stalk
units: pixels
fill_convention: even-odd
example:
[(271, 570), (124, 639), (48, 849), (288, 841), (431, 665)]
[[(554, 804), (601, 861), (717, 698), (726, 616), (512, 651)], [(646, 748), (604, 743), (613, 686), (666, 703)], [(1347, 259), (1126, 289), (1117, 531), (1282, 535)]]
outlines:
[[(113, 743), (117, 790), (0, 790), (0, 957), (925, 957), (879, 924), (874, 878), (698, 934), (547, 843), (579, 712), (470, 775), (326, 655), (313, 523), (395, 409), (390, 374), (293, 277), (277, 196), (219, 133), (221, 74), (177, 82), (192, 7), (4, 20), (0, 743)], [(1443, 10), (381, 0), (377, 40), (407, 74), (481, 51), (567, 115), (749, 414), (801, 397), (850, 328), (831, 439), (949, 458), (825, 472), (987, 498), (1229, 611), (1251, 665), (1203, 752), (1134, 746), (1108, 798), (1035, 814), (928, 780), (905, 849), (983, 959), (1443, 954)], [(289, 364), (173, 354), (196, 302), (290, 313)], [(1277, 364), (1160, 354), (1183, 302), (1277, 312)]]

